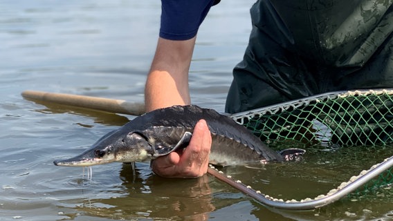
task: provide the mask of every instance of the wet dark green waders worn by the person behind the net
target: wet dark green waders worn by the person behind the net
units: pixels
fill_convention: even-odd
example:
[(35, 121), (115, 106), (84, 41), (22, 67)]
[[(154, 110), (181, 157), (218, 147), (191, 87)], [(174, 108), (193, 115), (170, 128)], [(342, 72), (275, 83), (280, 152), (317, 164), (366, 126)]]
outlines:
[(257, 1), (226, 112), (329, 91), (392, 88), (392, 1)]

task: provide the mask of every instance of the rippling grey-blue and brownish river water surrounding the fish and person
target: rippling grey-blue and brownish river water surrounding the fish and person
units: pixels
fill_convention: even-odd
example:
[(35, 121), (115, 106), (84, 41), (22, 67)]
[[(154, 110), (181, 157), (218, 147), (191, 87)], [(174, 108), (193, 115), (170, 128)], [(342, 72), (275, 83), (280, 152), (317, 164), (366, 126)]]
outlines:
[[(201, 26), (192, 102), (223, 111), (250, 32), (253, 1), (226, 0)], [(45, 90), (143, 102), (160, 1), (0, 1), (0, 220), (392, 220), (390, 187), (313, 211), (271, 209), (205, 175), (164, 179), (148, 164), (53, 165), (134, 116), (32, 102)], [(368, 151), (368, 152), (367, 152)], [(312, 152), (312, 151), (311, 151)], [(223, 171), (276, 198), (313, 198), (392, 155), (389, 146), (310, 154), (303, 162)], [(349, 163), (350, 162), (350, 163)]]

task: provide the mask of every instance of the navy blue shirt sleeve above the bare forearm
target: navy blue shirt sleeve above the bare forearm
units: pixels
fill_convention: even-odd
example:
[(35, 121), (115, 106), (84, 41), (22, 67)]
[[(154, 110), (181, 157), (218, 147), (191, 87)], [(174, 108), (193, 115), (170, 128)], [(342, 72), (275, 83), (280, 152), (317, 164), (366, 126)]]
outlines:
[(214, 0), (161, 0), (160, 37), (192, 39), (213, 3)]

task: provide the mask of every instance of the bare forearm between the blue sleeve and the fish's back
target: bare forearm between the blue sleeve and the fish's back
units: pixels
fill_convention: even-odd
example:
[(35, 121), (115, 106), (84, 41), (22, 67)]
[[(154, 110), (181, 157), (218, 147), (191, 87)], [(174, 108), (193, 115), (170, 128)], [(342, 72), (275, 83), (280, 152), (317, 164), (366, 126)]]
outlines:
[(195, 38), (185, 41), (158, 39), (156, 55), (145, 86), (146, 111), (175, 104), (190, 104), (188, 70)]

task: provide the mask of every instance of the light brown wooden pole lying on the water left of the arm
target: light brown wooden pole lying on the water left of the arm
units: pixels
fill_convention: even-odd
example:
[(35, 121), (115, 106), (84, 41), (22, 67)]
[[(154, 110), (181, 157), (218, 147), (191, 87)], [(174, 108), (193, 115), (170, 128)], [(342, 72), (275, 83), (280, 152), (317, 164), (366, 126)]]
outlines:
[(22, 97), (25, 99), (90, 108), (98, 111), (107, 111), (110, 113), (122, 113), (127, 115), (142, 115), (145, 113), (145, 104), (138, 102), (126, 102), (122, 99), (49, 93), (36, 90), (25, 90), (22, 93)]

